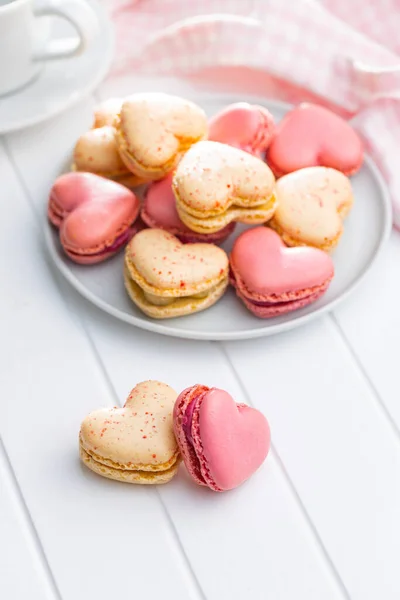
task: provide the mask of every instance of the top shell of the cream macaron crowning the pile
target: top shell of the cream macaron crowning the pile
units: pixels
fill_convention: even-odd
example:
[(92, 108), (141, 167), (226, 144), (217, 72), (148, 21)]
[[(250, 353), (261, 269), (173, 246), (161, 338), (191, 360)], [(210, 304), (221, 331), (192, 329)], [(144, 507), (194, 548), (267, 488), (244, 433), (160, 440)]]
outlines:
[(202, 218), (223, 214), (232, 205), (265, 205), (274, 183), (272, 171), (259, 158), (226, 144), (203, 141), (180, 161), (173, 189), (178, 208)]

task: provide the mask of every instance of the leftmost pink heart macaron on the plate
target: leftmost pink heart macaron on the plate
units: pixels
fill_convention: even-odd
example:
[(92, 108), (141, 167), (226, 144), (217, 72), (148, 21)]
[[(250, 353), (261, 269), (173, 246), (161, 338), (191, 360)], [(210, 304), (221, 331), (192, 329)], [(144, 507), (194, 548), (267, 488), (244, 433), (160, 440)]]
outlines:
[(136, 233), (139, 200), (116, 183), (92, 173), (67, 173), (55, 181), (48, 216), (60, 228), (65, 253), (80, 264), (116, 254)]

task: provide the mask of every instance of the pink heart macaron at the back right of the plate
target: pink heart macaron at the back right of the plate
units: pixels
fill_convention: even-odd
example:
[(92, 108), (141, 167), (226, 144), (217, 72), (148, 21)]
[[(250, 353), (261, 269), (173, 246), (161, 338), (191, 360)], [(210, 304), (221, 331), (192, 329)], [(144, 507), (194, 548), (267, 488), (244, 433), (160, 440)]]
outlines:
[(323, 106), (305, 103), (278, 125), (267, 162), (277, 176), (313, 166), (352, 175), (362, 165), (363, 145), (347, 121)]

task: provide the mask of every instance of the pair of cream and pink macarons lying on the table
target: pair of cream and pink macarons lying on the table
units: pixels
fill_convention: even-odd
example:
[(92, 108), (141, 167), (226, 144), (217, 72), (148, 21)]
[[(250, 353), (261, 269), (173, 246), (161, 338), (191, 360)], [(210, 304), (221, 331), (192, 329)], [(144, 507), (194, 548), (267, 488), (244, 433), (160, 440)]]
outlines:
[(102, 408), (82, 422), (82, 463), (108, 479), (168, 483), (183, 462), (192, 479), (216, 492), (244, 483), (270, 449), (264, 415), (224, 390), (193, 385), (177, 394), (144, 381), (123, 408)]

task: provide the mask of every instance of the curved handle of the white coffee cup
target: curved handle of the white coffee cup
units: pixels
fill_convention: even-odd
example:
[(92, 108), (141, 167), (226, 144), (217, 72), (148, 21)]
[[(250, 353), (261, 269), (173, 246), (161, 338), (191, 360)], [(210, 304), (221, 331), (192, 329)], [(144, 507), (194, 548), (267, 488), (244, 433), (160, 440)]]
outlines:
[(35, 17), (57, 16), (74, 26), (77, 37), (51, 40), (44, 50), (34, 54), (35, 61), (57, 60), (82, 54), (99, 33), (95, 11), (83, 0), (43, 0)]

